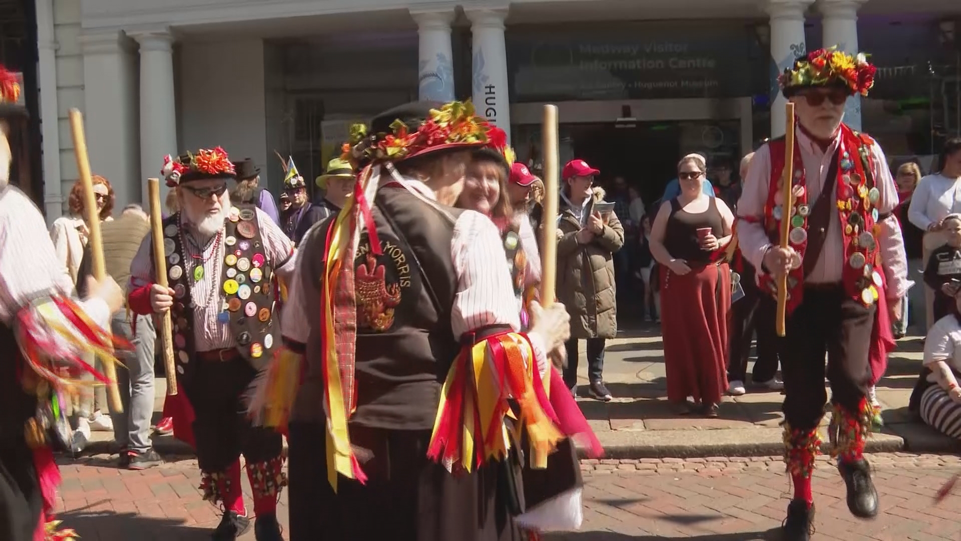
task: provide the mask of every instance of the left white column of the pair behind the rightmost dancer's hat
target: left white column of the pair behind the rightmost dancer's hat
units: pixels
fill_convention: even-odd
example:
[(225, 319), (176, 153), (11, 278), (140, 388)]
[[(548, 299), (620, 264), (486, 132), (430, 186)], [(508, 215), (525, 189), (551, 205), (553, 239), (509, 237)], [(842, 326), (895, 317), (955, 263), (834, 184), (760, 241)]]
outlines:
[[(795, 59), (806, 52), (804, 11), (813, 1), (768, 0), (766, 9), (771, 15), (771, 59), (776, 74), (794, 65)], [(784, 135), (784, 104), (787, 100), (777, 88), (776, 78), (771, 82), (771, 88), (776, 96), (771, 102), (771, 137), (776, 138)]]

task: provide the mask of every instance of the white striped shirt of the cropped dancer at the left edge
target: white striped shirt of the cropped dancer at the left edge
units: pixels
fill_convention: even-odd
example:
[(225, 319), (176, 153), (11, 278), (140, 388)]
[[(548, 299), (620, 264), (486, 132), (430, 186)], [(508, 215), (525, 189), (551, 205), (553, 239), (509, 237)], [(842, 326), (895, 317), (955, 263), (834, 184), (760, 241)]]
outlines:
[[(17, 311), (49, 295), (74, 296), (73, 280), (33, 201), (16, 188), (0, 189), (0, 321), (12, 324)], [(81, 306), (106, 328), (110, 309), (103, 299), (84, 300)]]

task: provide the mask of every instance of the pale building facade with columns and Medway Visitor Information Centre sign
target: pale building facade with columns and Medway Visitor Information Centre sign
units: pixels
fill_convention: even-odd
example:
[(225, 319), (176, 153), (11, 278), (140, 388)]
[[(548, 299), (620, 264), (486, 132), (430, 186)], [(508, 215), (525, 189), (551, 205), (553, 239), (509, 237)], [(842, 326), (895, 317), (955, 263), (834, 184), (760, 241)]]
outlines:
[[(961, 129), (956, 0), (36, 0), (44, 200), (76, 178), (66, 113), (85, 113), (91, 167), (140, 202), (162, 157), (222, 145), (279, 189), (347, 126), (418, 97), (473, 97), (536, 165), (542, 104), (561, 157), (653, 200), (678, 157), (736, 163), (783, 132), (776, 73), (805, 50), (874, 53), (848, 120), (925, 170)], [(57, 182), (54, 179), (60, 179)]]

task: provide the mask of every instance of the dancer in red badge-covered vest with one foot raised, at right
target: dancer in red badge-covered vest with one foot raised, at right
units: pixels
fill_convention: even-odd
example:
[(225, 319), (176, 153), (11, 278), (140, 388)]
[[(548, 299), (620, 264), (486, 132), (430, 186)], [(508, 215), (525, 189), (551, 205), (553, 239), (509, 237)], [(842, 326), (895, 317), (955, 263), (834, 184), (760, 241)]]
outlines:
[[(825, 351), (831, 455), (847, 485), (851, 514), (877, 515), (877, 491), (863, 456), (871, 428), (869, 350), (880, 342), (872, 334), (878, 301), (885, 300), (879, 296), (898, 308), (907, 289), (906, 263), (900, 230), (890, 215), (898, 192), (887, 160), (873, 139), (841, 122), (848, 97), (867, 95), (874, 73), (863, 54), (823, 49), (785, 70), (779, 82), (798, 117), (791, 171), (796, 214), (781, 216), (783, 138), (757, 151), (738, 205), (741, 249), (757, 269), (761, 290), (776, 292), (776, 275), (788, 276), (786, 336), (779, 353), (784, 461), (794, 481), (784, 524), (790, 541), (809, 539), (814, 520), (811, 472), (826, 400)], [(788, 248), (776, 246), (782, 218), (792, 224)], [(888, 287), (882, 266), (890, 270)], [(769, 296), (764, 302), (775, 300)]]

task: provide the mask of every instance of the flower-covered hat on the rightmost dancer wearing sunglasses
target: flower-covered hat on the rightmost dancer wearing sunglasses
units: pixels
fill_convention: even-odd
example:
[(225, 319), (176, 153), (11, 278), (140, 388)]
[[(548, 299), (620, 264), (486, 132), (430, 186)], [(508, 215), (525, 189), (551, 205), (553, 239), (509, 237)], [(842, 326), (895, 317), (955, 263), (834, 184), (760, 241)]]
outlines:
[(798, 90), (812, 87), (835, 87), (847, 89), (851, 94), (868, 95), (875, 85), (873, 64), (868, 55), (849, 55), (835, 47), (818, 49), (795, 61), (792, 68), (785, 68), (777, 77), (784, 97), (791, 97)]

